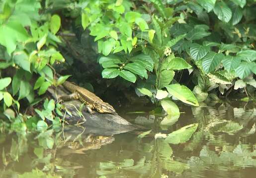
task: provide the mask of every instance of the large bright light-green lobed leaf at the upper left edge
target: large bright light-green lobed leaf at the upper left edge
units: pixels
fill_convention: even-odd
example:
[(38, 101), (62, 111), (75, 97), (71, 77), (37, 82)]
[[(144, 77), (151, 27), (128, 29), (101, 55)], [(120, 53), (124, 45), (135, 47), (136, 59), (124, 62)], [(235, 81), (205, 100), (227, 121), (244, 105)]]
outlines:
[(19, 21), (8, 20), (0, 25), (0, 44), (5, 46), (10, 55), (16, 49), (17, 42), (25, 42), (28, 35)]

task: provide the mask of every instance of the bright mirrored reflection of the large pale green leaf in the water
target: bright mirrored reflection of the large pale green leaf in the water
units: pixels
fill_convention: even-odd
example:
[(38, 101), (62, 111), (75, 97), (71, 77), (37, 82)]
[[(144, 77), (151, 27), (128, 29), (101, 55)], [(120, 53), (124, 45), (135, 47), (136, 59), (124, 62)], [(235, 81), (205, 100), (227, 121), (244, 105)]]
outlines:
[(172, 144), (184, 143), (190, 139), (192, 134), (196, 131), (198, 124), (190, 124), (180, 128), (177, 131), (168, 134), (166, 141)]

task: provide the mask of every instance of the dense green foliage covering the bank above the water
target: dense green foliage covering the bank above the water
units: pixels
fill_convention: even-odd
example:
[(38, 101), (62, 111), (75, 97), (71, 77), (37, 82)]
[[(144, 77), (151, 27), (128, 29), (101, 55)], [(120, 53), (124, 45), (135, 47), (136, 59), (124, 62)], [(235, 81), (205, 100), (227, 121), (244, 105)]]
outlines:
[(2, 110), (12, 122), (33, 121), (24, 130), (46, 131), (45, 118), (60, 126), (62, 106), (54, 100), (33, 120), (19, 109), (69, 77), (56, 80), (54, 68), (65, 66), (60, 51), (72, 34), (94, 38), (102, 78), (127, 81), (169, 115), (179, 115), (172, 99), (198, 106), (232, 88), (254, 98), (255, 9), (255, 0), (2, 0)]

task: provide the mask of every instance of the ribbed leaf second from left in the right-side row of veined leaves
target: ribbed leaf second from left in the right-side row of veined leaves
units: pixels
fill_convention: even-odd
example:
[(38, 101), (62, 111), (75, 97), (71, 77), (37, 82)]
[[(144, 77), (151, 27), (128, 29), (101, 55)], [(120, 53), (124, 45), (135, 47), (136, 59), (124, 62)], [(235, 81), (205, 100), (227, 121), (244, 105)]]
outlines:
[(212, 72), (223, 60), (224, 55), (222, 53), (208, 52), (203, 58), (202, 67), (206, 73)]

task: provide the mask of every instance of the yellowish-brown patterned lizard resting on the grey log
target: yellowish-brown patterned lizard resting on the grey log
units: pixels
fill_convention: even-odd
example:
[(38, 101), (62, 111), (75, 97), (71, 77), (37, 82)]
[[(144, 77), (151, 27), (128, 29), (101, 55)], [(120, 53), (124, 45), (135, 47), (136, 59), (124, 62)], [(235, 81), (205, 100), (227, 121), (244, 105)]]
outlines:
[(65, 81), (62, 86), (72, 92), (70, 95), (63, 95), (59, 99), (63, 101), (79, 99), (81, 102), (86, 104), (87, 111), (90, 114), (93, 114), (94, 111), (92, 109), (97, 110), (99, 113), (116, 113), (113, 106), (104, 102), (94, 93), (90, 92), (89, 90), (79, 87), (71, 82)]

